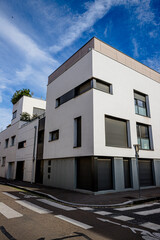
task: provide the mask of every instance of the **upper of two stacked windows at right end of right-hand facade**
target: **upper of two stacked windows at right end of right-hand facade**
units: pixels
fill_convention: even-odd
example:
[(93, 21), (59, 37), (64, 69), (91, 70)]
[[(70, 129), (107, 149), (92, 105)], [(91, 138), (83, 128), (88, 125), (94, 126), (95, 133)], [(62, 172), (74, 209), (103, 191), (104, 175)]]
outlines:
[(142, 116), (150, 116), (148, 96), (134, 91), (135, 113)]

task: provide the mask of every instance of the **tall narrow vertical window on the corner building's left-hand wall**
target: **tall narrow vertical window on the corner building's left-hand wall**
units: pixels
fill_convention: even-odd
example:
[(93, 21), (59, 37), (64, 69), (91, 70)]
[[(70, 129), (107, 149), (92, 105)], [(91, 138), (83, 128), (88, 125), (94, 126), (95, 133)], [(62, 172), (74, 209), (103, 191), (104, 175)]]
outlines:
[(81, 147), (81, 117), (74, 119), (74, 147)]

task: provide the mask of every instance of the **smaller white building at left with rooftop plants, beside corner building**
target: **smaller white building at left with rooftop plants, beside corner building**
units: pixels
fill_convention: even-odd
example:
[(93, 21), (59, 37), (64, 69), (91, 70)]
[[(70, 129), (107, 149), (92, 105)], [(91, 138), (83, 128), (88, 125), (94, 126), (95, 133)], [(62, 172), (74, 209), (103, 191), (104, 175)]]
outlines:
[[(1, 177), (35, 181), (39, 125), (45, 109), (44, 100), (27, 96), (13, 105), (11, 125), (0, 133)], [(34, 119), (22, 121), (21, 114), (24, 112), (34, 116)]]

